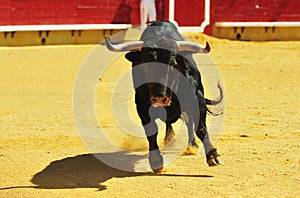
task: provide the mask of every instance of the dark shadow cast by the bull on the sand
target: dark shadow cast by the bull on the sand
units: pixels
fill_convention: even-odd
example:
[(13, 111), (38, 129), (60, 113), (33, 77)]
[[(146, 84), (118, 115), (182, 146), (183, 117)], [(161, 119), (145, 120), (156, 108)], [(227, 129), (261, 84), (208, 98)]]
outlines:
[[(119, 158), (130, 160), (132, 167), (125, 167), (123, 171), (112, 168), (97, 158)], [(210, 175), (180, 175), (180, 174), (155, 174), (133, 172), (134, 163), (144, 159), (145, 155), (132, 155), (125, 152), (83, 154), (51, 162), (44, 170), (34, 175), (31, 182), (42, 189), (73, 189), (73, 188), (98, 188), (105, 190), (103, 182), (113, 178), (137, 176), (174, 176), (174, 177), (212, 177)]]

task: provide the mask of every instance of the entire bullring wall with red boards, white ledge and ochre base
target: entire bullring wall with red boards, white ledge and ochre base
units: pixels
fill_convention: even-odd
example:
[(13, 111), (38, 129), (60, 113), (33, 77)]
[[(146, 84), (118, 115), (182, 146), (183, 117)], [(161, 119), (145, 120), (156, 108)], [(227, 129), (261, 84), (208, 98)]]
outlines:
[[(169, 19), (171, 2), (156, 1), (158, 20)], [(173, 3), (174, 20), (183, 31), (192, 29), (239, 40), (300, 40), (299, 0), (173, 0)], [(124, 30), (120, 25), (126, 25), (125, 29), (138, 26), (139, 15), (139, 0), (4, 0), (0, 4), (0, 46), (94, 44), (104, 34)], [(80, 24), (95, 24), (95, 28), (43, 28)], [(99, 28), (99, 24), (104, 28)], [(14, 26), (24, 25), (40, 28), (14, 30)]]

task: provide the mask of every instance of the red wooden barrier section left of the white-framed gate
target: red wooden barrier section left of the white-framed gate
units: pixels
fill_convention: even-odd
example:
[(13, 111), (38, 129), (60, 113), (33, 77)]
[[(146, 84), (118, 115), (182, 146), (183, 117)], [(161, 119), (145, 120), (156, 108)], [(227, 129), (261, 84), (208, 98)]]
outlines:
[[(165, 2), (156, 2), (158, 19)], [(0, 25), (139, 24), (140, 0), (3, 0)]]

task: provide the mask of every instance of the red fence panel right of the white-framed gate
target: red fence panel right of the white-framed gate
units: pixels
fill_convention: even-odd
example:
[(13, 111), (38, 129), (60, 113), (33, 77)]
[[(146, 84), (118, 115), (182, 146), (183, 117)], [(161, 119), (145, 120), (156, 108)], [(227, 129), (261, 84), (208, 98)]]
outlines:
[(213, 22), (300, 21), (299, 0), (213, 0)]

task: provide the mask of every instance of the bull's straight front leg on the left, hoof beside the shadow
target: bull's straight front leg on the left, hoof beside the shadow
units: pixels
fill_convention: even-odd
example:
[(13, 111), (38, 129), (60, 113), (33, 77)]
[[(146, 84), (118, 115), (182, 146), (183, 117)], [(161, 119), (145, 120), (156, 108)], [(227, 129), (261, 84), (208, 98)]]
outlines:
[(144, 125), (145, 133), (149, 143), (149, 163), (155, 173), (163, 170), (163, 157), (157, 144), (158, 128), (154, 121)]

